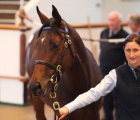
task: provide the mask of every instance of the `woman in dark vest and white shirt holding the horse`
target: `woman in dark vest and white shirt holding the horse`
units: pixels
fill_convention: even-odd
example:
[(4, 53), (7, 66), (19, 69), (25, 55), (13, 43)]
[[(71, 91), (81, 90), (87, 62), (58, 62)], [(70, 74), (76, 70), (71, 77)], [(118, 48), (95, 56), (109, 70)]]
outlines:
[(140, 36), (138, 34), (131, 34), (125, 39), (124, 53), (126, 63), (111, 70), (95, 88), (91, 88), (59, 109), (61, 117), (57, 120), (62, 120), (74, 110), (97, 101), (114, 88), (117, 97), (116, 120), (140, 120)]

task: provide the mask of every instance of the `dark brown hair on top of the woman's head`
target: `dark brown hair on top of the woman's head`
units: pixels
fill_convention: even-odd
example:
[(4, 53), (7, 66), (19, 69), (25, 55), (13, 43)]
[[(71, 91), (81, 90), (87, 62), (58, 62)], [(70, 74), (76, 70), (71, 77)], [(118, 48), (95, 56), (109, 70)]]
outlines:
[(125, 45), (128, 43), (128, 42), (136, 42), (138, 45), (140, 45), (140, 36), (136, 33), (133, 33), (133, 34), (130, 34), (128, 35), (126, 38), (125, 38), (125, 41), (123, 43), (123, 47), (125, 47)]

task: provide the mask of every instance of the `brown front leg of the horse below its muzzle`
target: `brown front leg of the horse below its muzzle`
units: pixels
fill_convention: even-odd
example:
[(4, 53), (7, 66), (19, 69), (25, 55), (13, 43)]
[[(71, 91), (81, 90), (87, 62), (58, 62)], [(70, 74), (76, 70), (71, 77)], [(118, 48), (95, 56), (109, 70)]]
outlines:
[(47, 120), (44, 113), (44, 102), (39, 97), (32, 98), (37, 120)]

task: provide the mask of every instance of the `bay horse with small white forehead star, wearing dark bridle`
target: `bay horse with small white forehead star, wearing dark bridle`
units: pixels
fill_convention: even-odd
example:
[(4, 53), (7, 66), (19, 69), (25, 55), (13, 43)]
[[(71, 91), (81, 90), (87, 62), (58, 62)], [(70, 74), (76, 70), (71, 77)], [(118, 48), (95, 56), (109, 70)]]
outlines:
[[(52, 8), (52, 18), (48, 19), (37, 7), (42, 27), (34, 34), (26, 52), (37, 120), (46, 120), (44, 103), (58, 111), (59, 105), (71, 102), (102, 79), (100, 68), (76, 30), (61, 18), (55, 6)], [(101, 106), (102, 98), (64, 120), (99, 120)]]

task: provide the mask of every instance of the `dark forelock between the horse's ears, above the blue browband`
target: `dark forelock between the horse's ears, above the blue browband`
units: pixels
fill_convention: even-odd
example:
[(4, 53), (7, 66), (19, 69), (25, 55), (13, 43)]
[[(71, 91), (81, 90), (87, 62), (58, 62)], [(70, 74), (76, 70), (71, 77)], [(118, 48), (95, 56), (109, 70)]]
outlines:
[(41, 35), (41, 32), (43, 31), (43, 28), (44, 27), (48, 27), (50, 26), (51, 29), (53, 30), (54, 33), (58, 34), (59, 36), (61, 36), (60, 34), (60, 31), (59, 31), (59, 28), (58, 28), (58, 25), (56, 24), (54, 18), (50, 18), (46, 23), (44, 23), (42, 25), (42, 27), (40, 28), (39, 30), (39, 34), (38, 34), (38, 37)]

